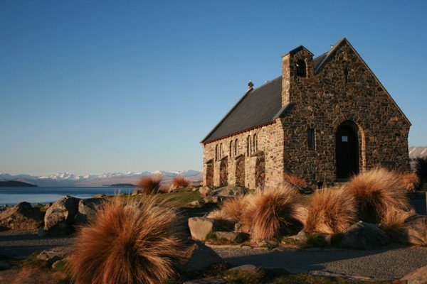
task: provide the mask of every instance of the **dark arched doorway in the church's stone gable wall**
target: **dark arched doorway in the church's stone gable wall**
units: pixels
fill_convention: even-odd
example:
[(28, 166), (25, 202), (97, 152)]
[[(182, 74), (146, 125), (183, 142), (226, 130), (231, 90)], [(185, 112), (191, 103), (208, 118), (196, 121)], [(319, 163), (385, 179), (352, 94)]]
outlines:
[(337, 180), (347, 180), (359, 173), (358, 127), (352, 121), (344, 121), (335, 135)]

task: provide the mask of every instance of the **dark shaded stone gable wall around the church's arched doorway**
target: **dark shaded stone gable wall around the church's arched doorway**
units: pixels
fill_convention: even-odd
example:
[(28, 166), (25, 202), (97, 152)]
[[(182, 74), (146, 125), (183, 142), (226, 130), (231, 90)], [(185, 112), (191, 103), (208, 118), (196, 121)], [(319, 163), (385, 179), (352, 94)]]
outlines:
[[(307, 77), (297, 77), (295, 64), (303, 59)], [(335, 134), (352, 121), (359, 138), (359, 171), (386, 165), (408, 170), (410, 124), (355, 50), (342, 43), (315, 74), (312, 56), (302, 49), (283, 58), (283, 83), (289, 82), (290, 112), (283, 119), (285, 172), (310, 185), (331, 185), (336, 178)], [(293, 70), (292, 70), (293, 68)], [(315, 149), (307, 143), (307, 129), (315, 129)]]

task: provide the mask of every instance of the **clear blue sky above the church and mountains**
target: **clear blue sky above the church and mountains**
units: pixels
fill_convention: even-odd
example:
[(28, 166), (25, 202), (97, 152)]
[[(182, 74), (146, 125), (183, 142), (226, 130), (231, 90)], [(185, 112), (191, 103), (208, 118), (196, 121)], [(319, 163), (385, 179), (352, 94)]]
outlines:
[(0, 1), (0, 172), (201, 170), (299, 45), (347, 38), (427, 146), (427, 1)]

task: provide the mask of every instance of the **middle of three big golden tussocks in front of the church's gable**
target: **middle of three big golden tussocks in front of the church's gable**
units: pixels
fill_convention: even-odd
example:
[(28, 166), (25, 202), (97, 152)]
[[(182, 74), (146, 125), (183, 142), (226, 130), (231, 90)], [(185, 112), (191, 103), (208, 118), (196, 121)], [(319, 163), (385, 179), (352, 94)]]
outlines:
[(305, 231), (334, 234), (357, 221), (357, 202), (342, 189), (317, 190), (308, 208)]

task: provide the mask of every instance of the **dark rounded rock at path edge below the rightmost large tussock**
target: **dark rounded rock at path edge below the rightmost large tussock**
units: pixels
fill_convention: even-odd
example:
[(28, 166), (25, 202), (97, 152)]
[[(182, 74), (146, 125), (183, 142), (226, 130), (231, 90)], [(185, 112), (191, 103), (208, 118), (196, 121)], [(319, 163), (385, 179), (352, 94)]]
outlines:
[(374, 224), (357, 222), (344, 231), (341, 244), (353, 249), (374, 249), (389, 243), (389, 236)]

